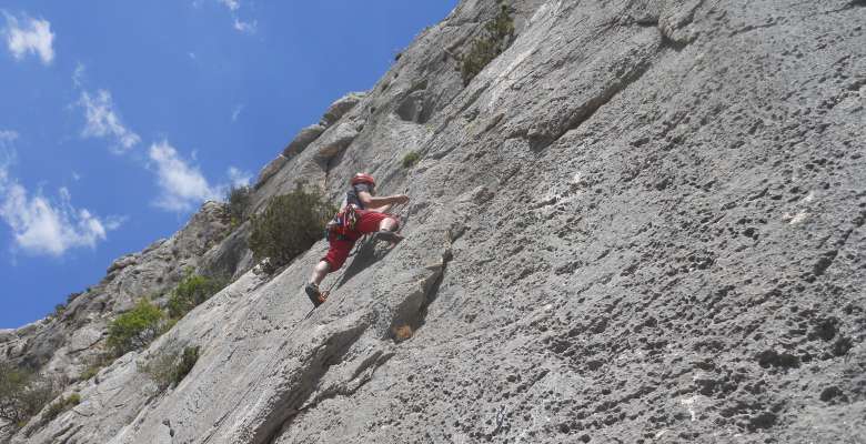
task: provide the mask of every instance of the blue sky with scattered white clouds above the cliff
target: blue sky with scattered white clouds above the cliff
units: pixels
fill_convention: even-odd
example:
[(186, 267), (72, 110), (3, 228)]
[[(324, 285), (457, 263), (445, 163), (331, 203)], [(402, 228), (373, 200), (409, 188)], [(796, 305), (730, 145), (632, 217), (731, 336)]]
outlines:
[(4, 0), (0, 329), (254, 179), (455, 4)]

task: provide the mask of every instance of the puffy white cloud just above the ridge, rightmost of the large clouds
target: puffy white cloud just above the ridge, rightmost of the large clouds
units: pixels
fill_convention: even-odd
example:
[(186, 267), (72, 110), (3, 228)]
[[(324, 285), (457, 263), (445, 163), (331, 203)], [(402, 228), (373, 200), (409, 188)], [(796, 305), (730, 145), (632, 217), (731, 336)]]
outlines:
[(220, 198), (219, 186), (211, 186), (198, 167), (189, 165), (168, 141), (150, 147), (150, 160), (157, 168), (161, 194), (154, 204), (169, 211), (189, 211), (207, 200)]

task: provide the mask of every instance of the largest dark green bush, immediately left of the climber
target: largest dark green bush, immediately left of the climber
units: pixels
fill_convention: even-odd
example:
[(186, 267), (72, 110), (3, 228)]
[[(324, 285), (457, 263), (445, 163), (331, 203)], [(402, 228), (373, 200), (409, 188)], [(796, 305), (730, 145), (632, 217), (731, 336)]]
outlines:
[(321, 193), (306, 192), (300, 184), (289, 194), (271, 198), (264, 211), (252, 218), (248, 242), (254, 260), (271, 258), (275, 269), (288, 264), (322, 239), (335, 212)]

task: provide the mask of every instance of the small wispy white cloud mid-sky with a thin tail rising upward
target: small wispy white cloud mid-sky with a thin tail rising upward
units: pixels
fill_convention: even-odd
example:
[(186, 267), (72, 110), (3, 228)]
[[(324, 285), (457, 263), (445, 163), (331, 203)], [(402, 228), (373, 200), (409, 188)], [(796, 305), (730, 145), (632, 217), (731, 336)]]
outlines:
[[(79, 70), (77, 69), (75, 72), (78, 73)], [(80, 78), (73, 77), (73, 80), (80, 82)], [(78, 103), (84, 108), (87, 119), (84, 130), (81, 132), (82, 137), (112, 139), (114, 143), (112, 151), (118, 154), (131, 150), (141, 142), (141, 138), (121, 122), (120, 117), (114, 111), (114, 103), (109, 91), (99, 90), (95, 95), (82, 91)]]

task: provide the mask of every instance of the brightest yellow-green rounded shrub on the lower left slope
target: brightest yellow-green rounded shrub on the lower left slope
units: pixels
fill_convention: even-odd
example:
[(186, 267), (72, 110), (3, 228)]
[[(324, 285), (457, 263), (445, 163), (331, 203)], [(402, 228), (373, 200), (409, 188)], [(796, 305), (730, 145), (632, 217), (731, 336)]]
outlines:
[(135, 307), (109, 324), (108, 346), (115, 356), (143, 349), (161, 332), (164, 314), (159, 306), (142, 299)]

